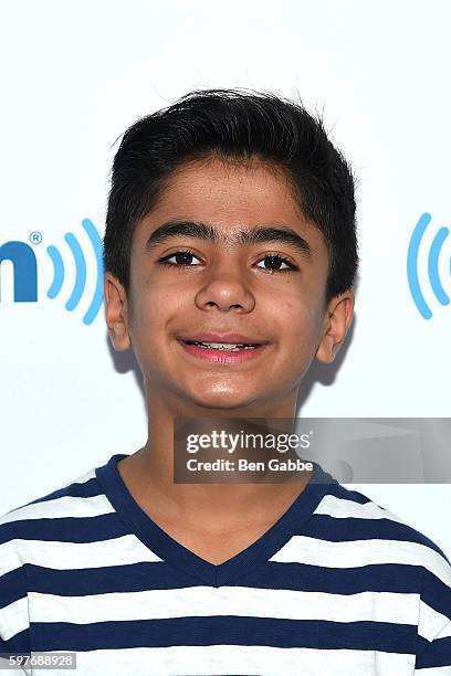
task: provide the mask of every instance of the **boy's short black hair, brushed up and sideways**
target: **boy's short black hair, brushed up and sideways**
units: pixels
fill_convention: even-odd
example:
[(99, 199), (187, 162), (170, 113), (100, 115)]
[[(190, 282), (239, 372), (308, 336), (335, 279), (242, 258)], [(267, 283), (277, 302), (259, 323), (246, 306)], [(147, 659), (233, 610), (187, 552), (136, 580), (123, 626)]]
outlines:
[(127, 294), (136, 223), (151, 211), (175, 169), (209, 156), (255, 158), (283, 170), (302, 213), (328, 247), (326, 304), (353, 287), (358, 267), (355, 180), (321, 117), (273, 93), (206, 89), (138, 119), (114, 157), (104, 267)]

